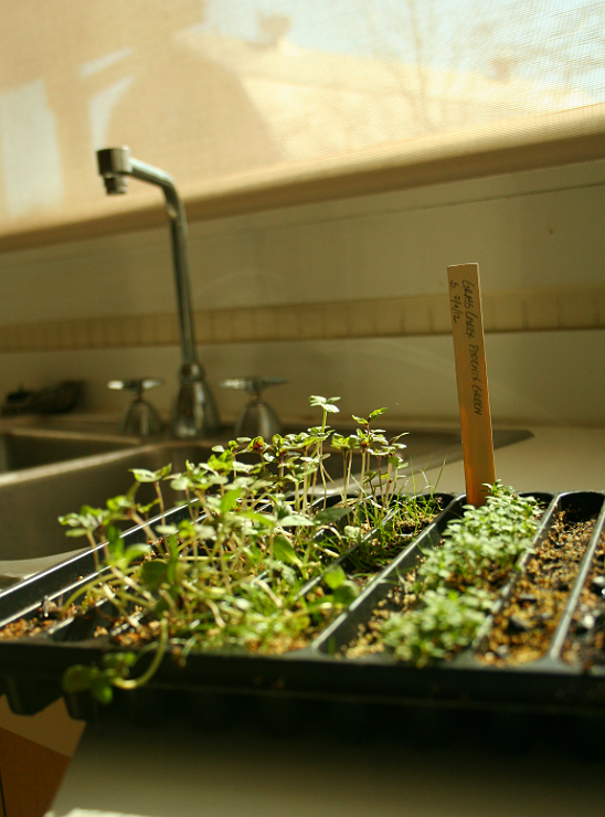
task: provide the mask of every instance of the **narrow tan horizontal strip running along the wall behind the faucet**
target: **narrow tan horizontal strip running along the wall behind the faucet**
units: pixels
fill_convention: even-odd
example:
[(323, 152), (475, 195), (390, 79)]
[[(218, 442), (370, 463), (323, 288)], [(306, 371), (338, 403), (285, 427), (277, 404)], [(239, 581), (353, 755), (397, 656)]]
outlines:
[[(484, 295), (487, 332), (605, 328), (605, 284)], [(194, 314), (199, 343), (403, 338), (450, 333), (447, 296), (326, 300)], [(179, 343), (174, 312), (0, 326), (0, 353)]]

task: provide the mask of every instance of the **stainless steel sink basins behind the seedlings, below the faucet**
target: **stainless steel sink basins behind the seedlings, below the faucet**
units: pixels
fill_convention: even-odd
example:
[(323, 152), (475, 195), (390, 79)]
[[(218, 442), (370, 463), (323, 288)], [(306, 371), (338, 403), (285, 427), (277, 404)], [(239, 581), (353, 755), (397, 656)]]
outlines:
[[(81, 550), (85, 540), (66, 538), (57, 517), (79, 510), (82, 505), (104, 506), (109, 497), (125, 494), (134, 482), (130, 468), (157, 470), (171, 463), (174, 470), (184, 470), (187, 460), (206, 459), (216, 442), (161, 441), (141, 445), (137, 441), (125, 442), (124, 437), (103, 439), (100, 435), (81, 434), (76, 439), (72, 434), (73, 439), (66, 443), (65, 435), (59, 436), (61, 444), (59, 439), (52, 441), (49, 434), (41, 437), (31, 431), (3, 435), (4, 444), (7, 437), (11, 437), (6, 449), (14, 446), (13, 461), (35, 461), (38, 467), (13, 465), (13, 470), (0, 474), (0, 587)], [(493, 441), (496, 446), (502, 446), (529, 436), (529, 432), (496, 431)], [(57, 448), (53, 449), (55, 442)], [(418, 474), (428, 467), (438, 467), (445, 458), (450, 463), (463, 456), (460, 436), (453, 431), (417, 429), (403, 442), (407, 446), (405, 459), (411, 463), (404, 469), (407, 474), (412, 470)], [(120, 445), (121, 449), (116, 450)], [(60, 455), (63, 461), (56, 460)], [(68, 459), (68, 456), (78, 458)], [(44, 457), (54, 458), (54, 464), (43, 465)], [(339, 454), (332, 454), (326, 466), (332, 478), (342, 476)], [(14, 470), (18, 467), (23, 470)], [(152, 487), (142, 485), (138, 496), (141, 501), (149, 501), (155, 496)], [(167, 507), (182, 502), (182, 494), (171, 491), (168, 484), (164, 498)]]

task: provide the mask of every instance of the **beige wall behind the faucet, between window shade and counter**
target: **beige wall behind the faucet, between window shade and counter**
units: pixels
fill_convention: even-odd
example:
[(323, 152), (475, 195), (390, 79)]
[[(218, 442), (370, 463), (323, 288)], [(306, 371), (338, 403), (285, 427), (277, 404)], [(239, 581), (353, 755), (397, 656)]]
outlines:
[[(263, 373), (290, 380), (270, 394), (285, 416), (322, 393), (344, 413), (455, 422), (445, 268), (478, 262), (495, 421), (605, 425), (603, 212), (593, 162), (191, 224), (200, 354), (223, 415), (243, 396), (219, 381)], [(81, 378), (86, 408), (118, 411), (108, 379), (161, 375), (168, 411), (171, 276), (163, 229), (0, 256), (0, 394)]]

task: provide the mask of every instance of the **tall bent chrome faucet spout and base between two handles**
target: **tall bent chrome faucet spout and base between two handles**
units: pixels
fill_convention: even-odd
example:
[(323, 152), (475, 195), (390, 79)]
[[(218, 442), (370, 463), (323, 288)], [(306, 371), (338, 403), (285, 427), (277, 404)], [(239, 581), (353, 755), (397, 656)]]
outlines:
[(174, 181), (163, 170), (132, 159), (127, 147), (97, 150), (97, 161), (98, 172), (110, 195), (126, 193), (129, 176), (150, 184), (157, 184), (162, 189), (170, 220), (182, 351), (182, 364), (179, 372), (180, 388), (171, 423), (172, 434), (179, 439), (208, 436), (220, 427), (219, 412), (195, 352), (187, 217)]

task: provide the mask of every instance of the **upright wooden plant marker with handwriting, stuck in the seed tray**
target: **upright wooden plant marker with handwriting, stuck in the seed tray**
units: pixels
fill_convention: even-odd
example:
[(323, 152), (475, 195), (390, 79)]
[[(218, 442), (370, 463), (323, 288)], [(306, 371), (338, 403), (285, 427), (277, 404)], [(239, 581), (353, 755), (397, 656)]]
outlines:
[(479, 266), (447, 267), (449, 307), (456, 360), (456, 383), (463, 433), (466, 497), (469, 505), (486, 503), (486, 484), (496, 481), (493, 439), (487, 390)]

